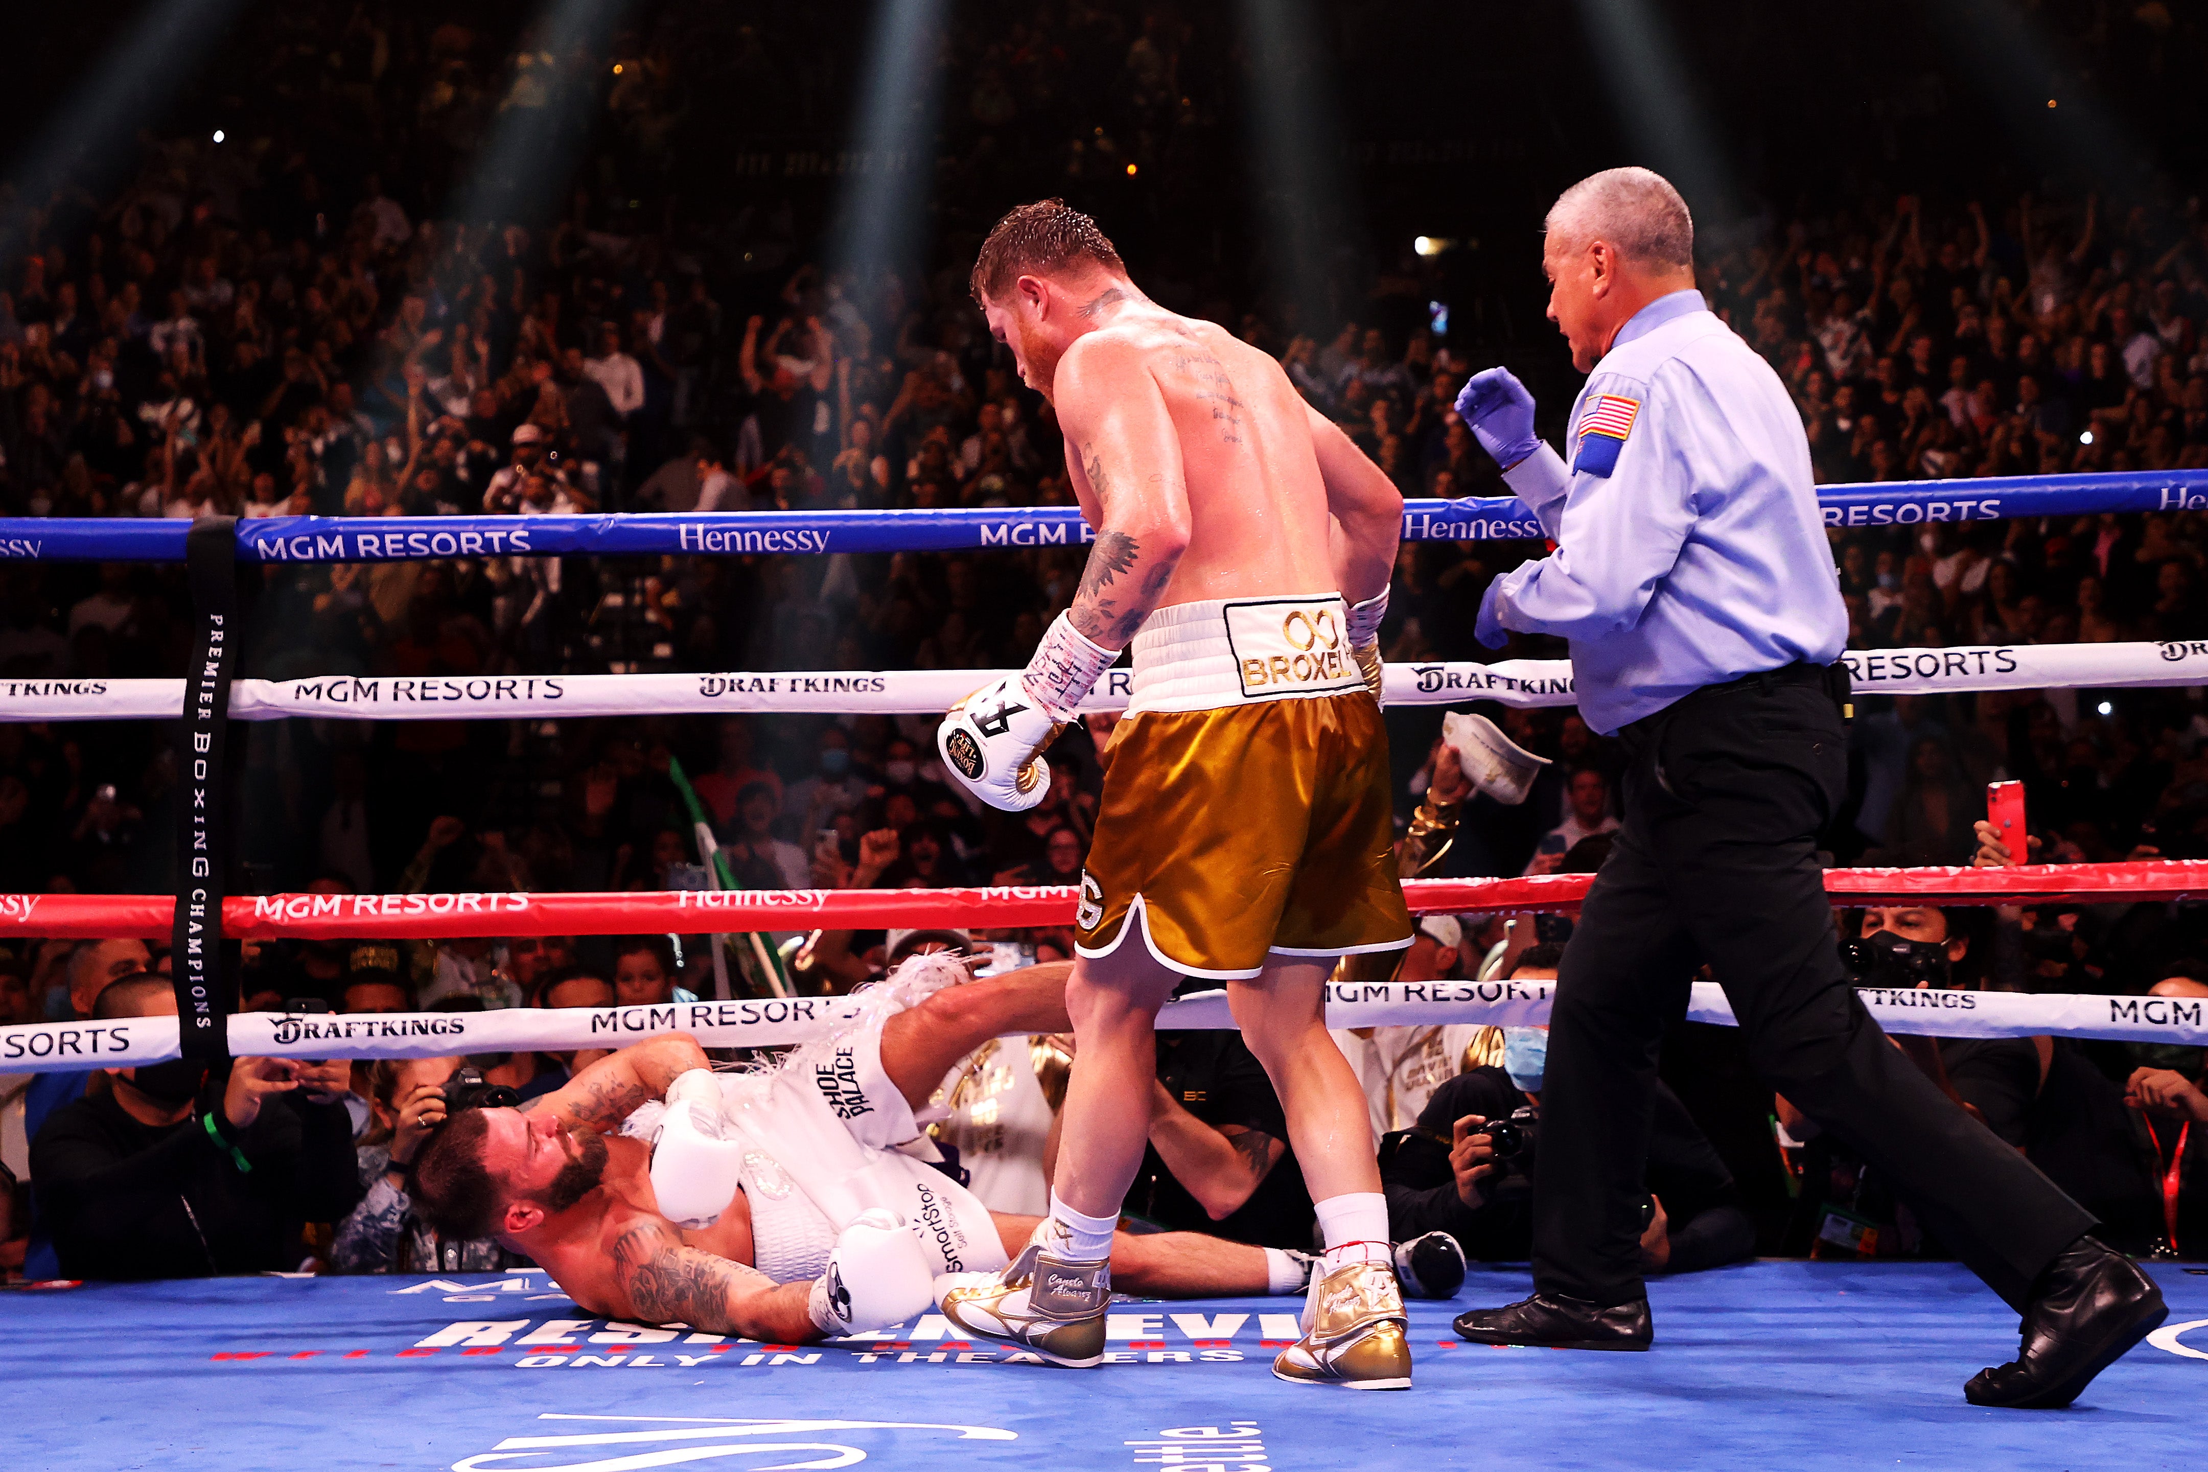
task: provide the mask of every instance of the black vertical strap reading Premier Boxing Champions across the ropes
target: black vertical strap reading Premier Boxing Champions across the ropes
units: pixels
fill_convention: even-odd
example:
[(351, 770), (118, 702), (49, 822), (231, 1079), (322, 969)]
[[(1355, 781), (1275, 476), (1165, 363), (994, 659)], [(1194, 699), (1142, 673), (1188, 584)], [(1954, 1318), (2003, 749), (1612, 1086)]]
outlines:
[(223, 892), (230, 863), (230, 783), (223, 750), (230, 680), (238, 666), (238, 523), (205, 516), (183, 541), (192, 585), (192, 664), (177, 724), (177, 1037), (183, 1057), (230, 1057), (230, 986), (223, 967)]

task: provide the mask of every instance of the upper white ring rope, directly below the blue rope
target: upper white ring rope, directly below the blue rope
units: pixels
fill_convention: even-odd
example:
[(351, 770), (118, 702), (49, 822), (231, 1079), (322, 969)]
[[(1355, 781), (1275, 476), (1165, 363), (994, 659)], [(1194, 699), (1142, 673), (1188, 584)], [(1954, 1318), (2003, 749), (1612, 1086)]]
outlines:
[[(2049, 686), (2208, 684), (2208, 642), (2159, 644), (1972, 644), (1961, 649), (1850, 649), (1841, 655), (1859, 695), (2038, 691)], [(757, 671), (700, 675), (316, 675), (238, 680), (236, 719), (289, 715), (426, 722), (461, 717), (585, 715), (934, 715), (1011, 671)], [(1119, 711), (1130, 671), (1113, 669), (1082, 711)], [(1387, 702), (1453, 706), (1572, 704), (1570, 660), (1497, 664), (1389, 664)], [(181, 680), (0, 680), (0, 722), (170, 719)]]

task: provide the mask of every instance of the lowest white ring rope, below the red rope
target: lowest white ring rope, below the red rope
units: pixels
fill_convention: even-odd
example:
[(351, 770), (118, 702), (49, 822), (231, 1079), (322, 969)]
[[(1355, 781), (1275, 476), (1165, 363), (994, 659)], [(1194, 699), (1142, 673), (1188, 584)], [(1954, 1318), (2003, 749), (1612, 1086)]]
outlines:
[[(1471, 1022), (1541, 1026), (1552, 982), (1334, 982), (1327, 1026)], [(2018, 991), (1861, 989), (1864, 1006), (1888, 1033), (1925, 1037), (2109, 1037), (2208, 1046), (2204, 998), (2027, 995)], [(665, 1006), (517, 1006), (488, 1013), (238, 1013), (230, 1017), (234, 1057), (453, 1057), (618, 1048), (669, 1031), (696, 1033), (709, 1048), (766, 1048), (826, 1037), (859, 1015), (852, 998), (753, 998), (669, 1002)], [(1713, 982), (1696, 982), (1691, 1022), (1733, 1026), (1733, 1009)], [(1161, 1028), (1228, 1031), (1223, 991), (1168, 1002)], [(0, 1028), (0, 1073), (128, 1068), (177, 1057), (174, 1017), (115, 1022), (33, 1022)]]

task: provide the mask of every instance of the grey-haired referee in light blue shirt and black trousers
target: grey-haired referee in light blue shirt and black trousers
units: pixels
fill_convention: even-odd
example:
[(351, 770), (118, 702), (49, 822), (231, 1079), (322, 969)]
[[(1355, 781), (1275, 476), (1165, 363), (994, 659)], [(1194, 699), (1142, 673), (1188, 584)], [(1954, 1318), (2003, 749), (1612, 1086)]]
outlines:
[(1616, 168), (1548, 212), (1548, 316), (1590, 373), (1570, 466), (1506, 369), (1457, 397), (1557, 543), (1497, 578), (1479, 642), (1572, 640), (1579, 711), (1625, 748), (1625, 825), (1563, 953), (1535, 1159), (1535, 1295), (1473, 1344), (1647, 1348), (1636, 1247), (1656, 1050), (1709, 964), (1771, 1088), (1853, 1145), (2023, 1313), (1978, 1406), (2067, 1406), (2166, 1315), (2129, 1258), (1879, 1031), (1839, 962), (1817, 830), (1848, 786), (1848, 618), (1777, 375), (1694, 289), (1694, 221)]

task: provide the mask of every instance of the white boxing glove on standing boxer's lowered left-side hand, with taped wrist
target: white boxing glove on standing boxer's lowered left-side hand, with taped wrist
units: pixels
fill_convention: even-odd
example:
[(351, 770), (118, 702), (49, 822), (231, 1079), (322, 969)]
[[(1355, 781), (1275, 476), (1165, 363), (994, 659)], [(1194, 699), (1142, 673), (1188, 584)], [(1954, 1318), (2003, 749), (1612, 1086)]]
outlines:
[(1097, 678), (1119, 658), (1060, 614), (1018, 675), (980, 686), (936, 726), (943, 766), (976, 797), (1027, 812), (1051, 792), (1042, 748), (1080, 713)]

